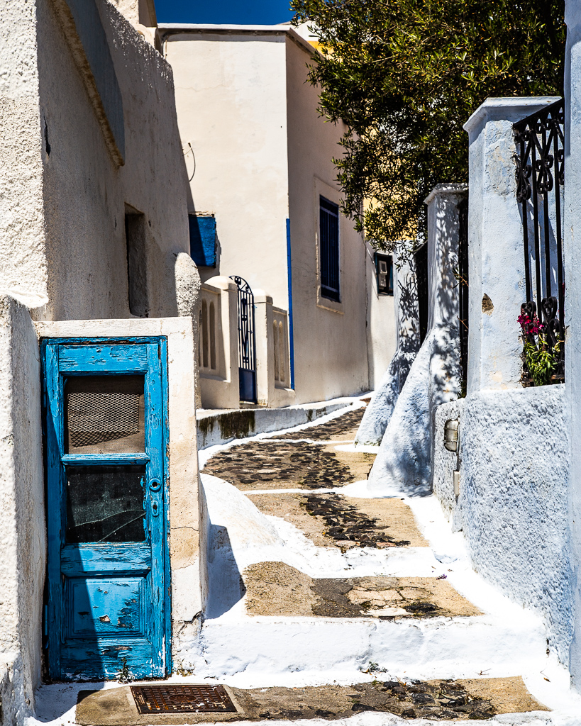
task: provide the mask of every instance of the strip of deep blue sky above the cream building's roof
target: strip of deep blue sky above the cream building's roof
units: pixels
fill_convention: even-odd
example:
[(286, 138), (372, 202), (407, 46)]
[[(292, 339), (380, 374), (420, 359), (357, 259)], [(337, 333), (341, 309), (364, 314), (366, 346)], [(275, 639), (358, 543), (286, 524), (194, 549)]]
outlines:
[(293, 17), (289, 0), (155, 0), (158, 23), (270, 25)]

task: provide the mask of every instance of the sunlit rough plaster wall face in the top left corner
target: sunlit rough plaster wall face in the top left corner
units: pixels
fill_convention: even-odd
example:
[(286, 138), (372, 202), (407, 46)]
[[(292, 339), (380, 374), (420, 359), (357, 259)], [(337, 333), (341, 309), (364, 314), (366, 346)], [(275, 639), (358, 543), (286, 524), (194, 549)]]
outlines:
[(0, 4), (0, 291), (46, 302), (36, 7)]

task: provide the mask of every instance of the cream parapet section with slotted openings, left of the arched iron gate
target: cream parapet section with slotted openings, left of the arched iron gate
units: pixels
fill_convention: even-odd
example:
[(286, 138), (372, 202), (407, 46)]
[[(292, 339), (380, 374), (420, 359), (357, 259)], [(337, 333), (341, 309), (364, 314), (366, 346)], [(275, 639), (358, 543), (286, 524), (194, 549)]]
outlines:
[(240, 406), (236, 295), (229, 277), (211, 277), (201, 287), (198, 370), (205, 409)]

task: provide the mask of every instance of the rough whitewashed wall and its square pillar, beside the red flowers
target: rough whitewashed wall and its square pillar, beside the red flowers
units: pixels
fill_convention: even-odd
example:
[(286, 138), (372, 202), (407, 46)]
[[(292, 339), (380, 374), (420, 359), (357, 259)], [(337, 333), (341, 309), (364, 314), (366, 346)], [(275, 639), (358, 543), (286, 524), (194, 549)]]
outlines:
[[(569, 662), (569, 448), (565, 386), (522, 388), (517, 317), (524, 254), (512, 125), (553, 98), (487, 99), (465, 129), (470, 143), (468, 391), (436, 409), (433, 488), (462, 529), (476, 571), (539, 611), (548, 643)], [(567, 181), (567, 183), (570, 183)], [(484, 295), (489, 301), (483, 304)], [(569, 341), (566, 343), (569, 356)], [(567, 387), (569, 387), (567, 379)], [(459, 419), (459, 450), (444, 425)], [(455, 494), (453, 472), (460, 472)]]

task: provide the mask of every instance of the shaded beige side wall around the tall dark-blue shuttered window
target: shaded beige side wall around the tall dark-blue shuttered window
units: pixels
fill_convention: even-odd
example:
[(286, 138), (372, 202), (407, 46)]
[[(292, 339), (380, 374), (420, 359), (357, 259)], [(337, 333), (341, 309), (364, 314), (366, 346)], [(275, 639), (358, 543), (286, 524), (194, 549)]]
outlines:
[(342, 126), (317, 113), (318, 89), (306, 81), (309, 55), (288, 37), (288, 189), (293, 273), (297, 403), (368, 388), (365, 245), (340, 218), (341, 303), (320, 296), (317, 262), (319, 195), (338, 203), (332, 158)]

